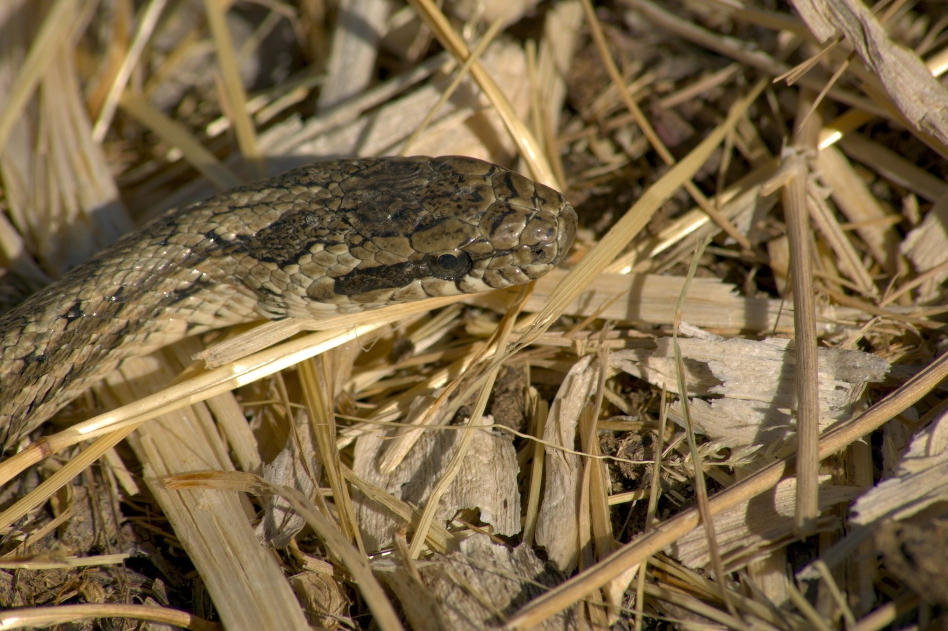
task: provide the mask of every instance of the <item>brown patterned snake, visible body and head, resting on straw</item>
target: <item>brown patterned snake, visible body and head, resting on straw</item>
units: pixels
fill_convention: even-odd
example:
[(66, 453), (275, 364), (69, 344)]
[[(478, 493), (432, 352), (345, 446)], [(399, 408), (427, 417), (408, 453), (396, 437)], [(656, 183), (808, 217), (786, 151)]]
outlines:
[(170, 210), (0, 316), (0, 445), (188, 335), (538, 279), (576, 223), (562, 193), (457, 155), (326, 160)]

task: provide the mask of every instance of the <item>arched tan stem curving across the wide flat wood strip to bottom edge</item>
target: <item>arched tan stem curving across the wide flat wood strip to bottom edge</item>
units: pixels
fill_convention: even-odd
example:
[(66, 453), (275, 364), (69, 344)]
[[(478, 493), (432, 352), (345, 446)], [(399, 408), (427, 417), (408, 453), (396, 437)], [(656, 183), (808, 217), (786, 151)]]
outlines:
[(306, 520), (306, 523), (325, 542), (326, 549), (336, 555), (342, 565), (353, 577), (359, 592), (365, 598), (374, 616), (373, 622), (386, 631), (402, 629), (398, 616), (392, 609), (392, 604), (382, 586), (378, 584), (369, 568), (365, 555), (346, 540), (338, 531), (336, 524), (319, 513), (312, 502), (300, 491), (287, 487), (270, 484), (264, 478), (253, 474), (237, 471), (211, 471), (183, 476), (165, 478), (165, 487), (169, 490), (179, 489), (216, 489), (220, 491), (240, 491), (252, 493), (256, 496), (279, 495), (283, 497), (293, 510)]

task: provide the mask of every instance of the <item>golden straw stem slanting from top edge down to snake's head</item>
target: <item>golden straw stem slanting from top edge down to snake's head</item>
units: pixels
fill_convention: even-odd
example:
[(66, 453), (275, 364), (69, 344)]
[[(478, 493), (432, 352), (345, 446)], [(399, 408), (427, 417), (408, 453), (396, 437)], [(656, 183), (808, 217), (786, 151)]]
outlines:
[[(459, 63), (464, 63), (470, 56), (470, 52), (467, 50), (464, 40), (447, 21), (445, 14), (435, 7), (431, 0), (409, 0), (409, 4), (418, 12), (418, 15), (421, 16), (425, 24), (428, 25), (428, 28), (434, 32), (435, 37), (438, 38), (441, 45), (445, 46), (445, 48), (457, 58)], [(527, 165), (529, 165), (534, 179), (554, 189), (562, 189), (563, 187), (560, 186), (560, 183), (556, 182), (553, 169), (550, 167), (546, 156), (542, 153), (537, 138), (530, 133), (526, 125), (524, 125), (514, 113), (510, 101), (503, 96), (497, 82), (487, 74), (480, 63), (473, 64), (470, 68), (470, 73), (474, 81), (477, 81), (478, 85), (481, 86), (487, 99), (490, 99), (494, 109), (497, 110), (498, 116), (501, 117), (504, 127), (507, 128), (514, 142), (517, 143), (520, 156), (526, 161)]]

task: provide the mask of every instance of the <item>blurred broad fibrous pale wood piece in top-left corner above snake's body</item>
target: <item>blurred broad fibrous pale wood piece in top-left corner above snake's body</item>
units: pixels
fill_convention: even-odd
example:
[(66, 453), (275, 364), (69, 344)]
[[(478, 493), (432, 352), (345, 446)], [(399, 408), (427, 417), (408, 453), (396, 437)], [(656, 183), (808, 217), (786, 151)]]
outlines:
[(46, 15), (28, 4), (0, 3), (0, 181), (22, 235), (3, 230), (0, 257), (38, 289), (47, 279), (27, 251), (57, 276), (114, 243), (131, 221), (92, 140), (76, 60), (65, 45), (76, 36), (79, 4), (58, 2)]

